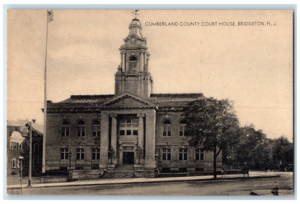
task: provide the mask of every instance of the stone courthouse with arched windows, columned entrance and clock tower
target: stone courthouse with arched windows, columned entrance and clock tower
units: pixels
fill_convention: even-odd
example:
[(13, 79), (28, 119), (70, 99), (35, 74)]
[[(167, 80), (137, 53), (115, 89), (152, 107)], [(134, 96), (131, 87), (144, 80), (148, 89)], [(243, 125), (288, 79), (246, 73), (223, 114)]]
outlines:
[(141, 30), (140, 21), (133, 19), (119, 48), (114, 94), (47, 101), (46, 171), (67, 170), (69, 165), (72, 170), (111, 170), (119, 165), (160, 172), (213, 170), (212, 153), (189, 147), (182, 117), (188, 102), (205, 97), (152, 92), (150, 53)]

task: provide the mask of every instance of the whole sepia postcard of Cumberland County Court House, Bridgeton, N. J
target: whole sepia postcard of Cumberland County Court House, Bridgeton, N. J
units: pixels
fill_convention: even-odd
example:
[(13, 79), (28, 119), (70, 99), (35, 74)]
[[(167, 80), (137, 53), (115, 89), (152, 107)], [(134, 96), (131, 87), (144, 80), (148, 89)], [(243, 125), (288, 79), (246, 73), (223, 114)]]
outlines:
[(293, 32), (292, 10), (7, 10), (7, 194), (293, 196)]

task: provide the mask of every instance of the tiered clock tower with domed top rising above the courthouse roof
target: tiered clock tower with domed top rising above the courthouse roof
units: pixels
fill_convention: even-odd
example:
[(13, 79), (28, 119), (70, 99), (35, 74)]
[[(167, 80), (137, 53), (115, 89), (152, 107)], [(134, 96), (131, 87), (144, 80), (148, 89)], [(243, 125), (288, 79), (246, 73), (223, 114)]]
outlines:
[(148, 71), (150, 54), (141, 31), (140, 20), (132, 19), (129, 34), (124, 38), (125, 44), (119, 48), (121, 63), (115, 74), (115, 96), (130, 92), (148, 98), (152, 93), (153, 79)]

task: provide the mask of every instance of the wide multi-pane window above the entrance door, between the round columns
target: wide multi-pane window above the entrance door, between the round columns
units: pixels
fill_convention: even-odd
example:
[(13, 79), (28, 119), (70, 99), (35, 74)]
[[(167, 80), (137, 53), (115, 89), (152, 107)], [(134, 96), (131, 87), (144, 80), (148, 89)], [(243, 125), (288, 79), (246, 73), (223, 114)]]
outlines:
[(120, 136), (138, 135), (139, 119), (138, 118), (121, 118)]

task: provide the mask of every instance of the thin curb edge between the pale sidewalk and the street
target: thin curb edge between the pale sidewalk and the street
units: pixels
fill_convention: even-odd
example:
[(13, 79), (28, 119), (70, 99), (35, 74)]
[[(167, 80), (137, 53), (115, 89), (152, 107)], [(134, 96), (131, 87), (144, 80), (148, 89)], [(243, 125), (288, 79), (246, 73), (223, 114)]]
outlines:
[[(126, 184), (142, 184), (142, 183), (170, 183), (170, 182), (192, 182), (192, 181), (218, 181), (218, 180), (239, 180), (239, 179), (263, 179), (277, 178), (280, 175), (274, 176), (251, 176), (251, 177), (229, 177), (229, 178), (210, 178), (210, 179), (181, 179), (181, 180), (166, 180), (166, 181), (135, 181), (135, 182), (115, 182), (115, 183), (93, 183), (93, 184), (66, 184), (66, 185), (47, 185), (47, 186), (25, 186), (24, 188), (54, 188), (54, 187), (71, 187), (71, 186), (95, 186), (95, 185), (126, 185)], [(21, 187), (7, 187), (8, 189), (21, 189)]]

